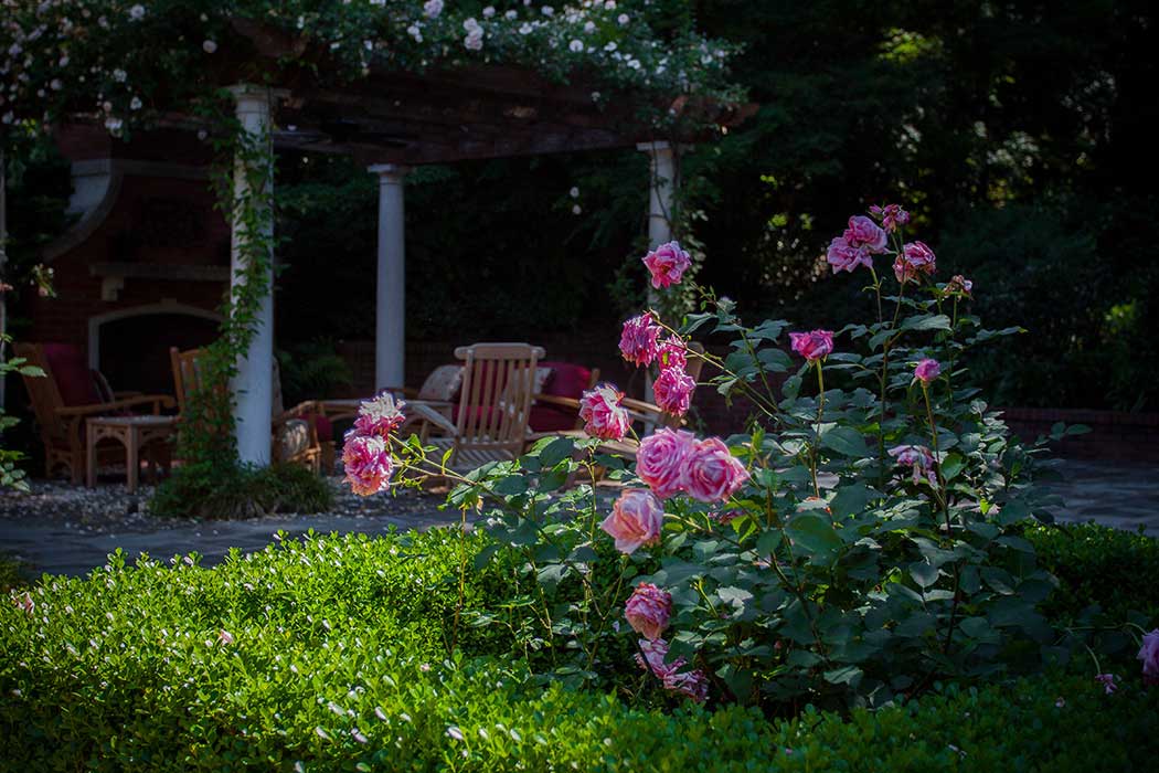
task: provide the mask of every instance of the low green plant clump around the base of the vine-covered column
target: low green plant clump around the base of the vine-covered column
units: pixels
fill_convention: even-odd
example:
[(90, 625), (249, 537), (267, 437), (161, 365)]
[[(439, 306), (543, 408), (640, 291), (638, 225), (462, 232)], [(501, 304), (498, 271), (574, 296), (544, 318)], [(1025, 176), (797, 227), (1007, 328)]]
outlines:
[(275, 512), (325, 512), (330, 483), (300, 465), (249, 467), (188, 464), (173, 471), (150, 501), (150, 512), (181, 518), (253, 518)]

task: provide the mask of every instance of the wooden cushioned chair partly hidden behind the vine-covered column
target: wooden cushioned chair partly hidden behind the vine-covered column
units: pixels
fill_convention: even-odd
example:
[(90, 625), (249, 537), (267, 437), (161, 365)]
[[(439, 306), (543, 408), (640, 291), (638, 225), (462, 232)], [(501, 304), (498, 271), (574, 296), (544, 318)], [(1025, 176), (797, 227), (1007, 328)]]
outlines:
[[(182, 416), (187, 414), (187, 407), (194, 392), (202, 384), (201, 362), (204, 349), (191, 349), (178, 351), (176, 348), (169, 349), (169, 358), (173, 364), (173, 381), (177, 393), (177, 407)], [(270, 374), (277, 379), (277, 364)], [(312, 400), (300, 402), (289, 410), (282, 410), (282, 389), (275, 382), (274, 389), (274, 415), (270, 420), (272, 433), (272, 459), (275, 464), (302, 465), (309, 469), (320, 472), (322, 466), (334, 465), (334, 443), (323, 443), (319, 439), (320, 424), (328, 428), (321, 408)]]

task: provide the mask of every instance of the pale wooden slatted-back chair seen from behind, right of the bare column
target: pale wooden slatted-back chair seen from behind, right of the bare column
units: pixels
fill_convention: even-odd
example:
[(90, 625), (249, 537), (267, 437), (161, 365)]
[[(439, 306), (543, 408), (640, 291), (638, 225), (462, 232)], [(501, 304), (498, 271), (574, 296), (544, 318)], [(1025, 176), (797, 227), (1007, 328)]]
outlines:
[(526, 343), (475, 343), (459, 347), (454, 356), (464, 365), (453, 421), (421, 401), (407, 404), (422, 422), (423, 444), (435, 446), (439, 460), (450, 450), (447, 466), (457, 472), (515, 459), (526, 442), (535, 365), (544, 350)]

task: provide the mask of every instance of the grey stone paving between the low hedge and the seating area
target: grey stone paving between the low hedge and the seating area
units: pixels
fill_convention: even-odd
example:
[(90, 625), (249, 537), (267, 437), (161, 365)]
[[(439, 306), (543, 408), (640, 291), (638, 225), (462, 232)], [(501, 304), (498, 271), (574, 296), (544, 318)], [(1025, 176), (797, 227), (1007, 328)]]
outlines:
[[(1130, 531), (1142, 527), (1145, 533), (1159, 537), (1159, 466), (1069, 460), (1059, 471), (1060, 480), (1047, 483), (1065, 502), (1055, 509), (1059, 522), (1095, 520)], [(197, 552), (204, 556), (203, 566), (213, 566), (231, 547), (242, 552), (264, 548), (279, 530), (293, 537), (311, 528), (320, 533), (382, 534), (392, 527), (406, 531), (457, 523), (457, 513), (439, 511), (433, 499), (414, 502), (402, 512), (373, 515), (282, 516), (180, 525), (133, 518), (122, 522), (121, 531), (111, 526), (89, 531), (87, 526), (60, 519), (3, 515), (0, 512), (0, 550), (31, 563), (37, 574), (72, 576), (103, 566), (105, 556), (118, 547), (130, 560), (140, 553), (165, 560)]]

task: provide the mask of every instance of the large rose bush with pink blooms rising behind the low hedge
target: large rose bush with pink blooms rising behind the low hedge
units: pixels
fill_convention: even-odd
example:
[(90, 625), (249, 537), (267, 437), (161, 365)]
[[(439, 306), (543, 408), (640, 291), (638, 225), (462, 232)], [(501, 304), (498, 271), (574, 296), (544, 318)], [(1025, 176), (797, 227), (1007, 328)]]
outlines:
[[(850, 218), (826, 255), (832, 280), (859, 282), (875, 301), (867, 323), (838, 322), (840, 356), (833, 330), (749, 327), (710, 291), (679, 322), (647, 311), (624, 324), (620, 352), (653, 369), (661, 411), (690, 410), (695, 362), (701, 385), (735, 399), (735, 435), (659, 426), (634, 454), (608, 459), (617, 454), (600, 440), (622, 437), (627, 421), (622, 395), (600, 387), (581, 401), (590, 438), (552, 440), (532, 454), (526, 481), (498, 487), (506, 504), (488, 531), (518, 550), (547, 596), (544, 619), (527, 623), (539, 626), (538, 642), (566, 639), (552, 647), (592, 673), (630, 635), (639, 666), (697, 701), (876, 706), (934, 679), (1000, 672), (1007, 648), (996, 637), (1041, 640), (1036, 601), (1009, 589), (1049, 588), (1050, 576), (1026, 556), (1013, 574), (1012, 550), (1026, 540), (1003, 539), (1019, 535), (1016, 513), (1041, 510), (1023, 466), (1033, 462), (968, 384), (950, 389), (942, 378), (996, 331), (983, 336), (976, 316), (958, 313), (972, 292), (967, 279), (934, 283), (936, 257), (906, 241), (905, 210), (869, 212)], [(879, 255), (894, 262), (894, 277), (879, 276)], [(644, 265), (657, 287), (690, 284), (675, 246)], [(858, 268), (872, 282), (841, 276)], [(727, 353), (690, 348), (697, 330)], [(727, 350), (720, 336), (732, 338)], [(551, 495), (584, 472), (589, 488)], [(604, 481), (625, 487), (610, 509), (596, 486)], [(593, 569), (613, 550), (617, 566)], [(566, 581), (571, 595), (551, 596)], [(553, 617), (553, 605), (567, 612)], [(1159, 681), (1159, 629), (1139, 659)], [(1099, 684), (1120, 687), (1107, 673)]]

